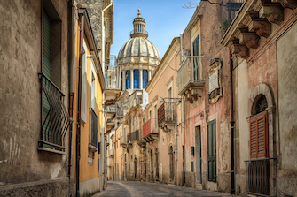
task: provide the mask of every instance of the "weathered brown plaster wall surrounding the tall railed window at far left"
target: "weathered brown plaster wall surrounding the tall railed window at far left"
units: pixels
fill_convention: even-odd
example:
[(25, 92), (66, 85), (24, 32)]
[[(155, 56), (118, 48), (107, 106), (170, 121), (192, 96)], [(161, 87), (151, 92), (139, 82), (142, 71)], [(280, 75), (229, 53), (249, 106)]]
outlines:
[[(61, 90), (68, 95), (67, 1), (52, 3), (62, 19)], [(42, 57), (41, 13), (41, 1), (3, 1), (0, 4), (0, 185), (4, 186), (67, 178), (67, 155), (37, 150), (41, 133), (41, 85), (38, 79)], [(66, 108), (67, 103), (66, 97)], [(67, 139), (68, 133), (66, 153), (69, 153)], [(21, 187), (14, 192), (29, 193), (31, 189), (36, 193), (50, 190), (51, 193), (66, 193), (68, 186), (67, 183), (57, 183), (57, 187)]]

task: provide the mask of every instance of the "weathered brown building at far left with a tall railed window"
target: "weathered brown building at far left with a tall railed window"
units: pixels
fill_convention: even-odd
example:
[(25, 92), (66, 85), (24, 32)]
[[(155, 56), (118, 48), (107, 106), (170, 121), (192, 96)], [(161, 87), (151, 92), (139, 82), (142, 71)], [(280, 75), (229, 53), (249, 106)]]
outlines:
[(68, 1), (3, 1), (0, 196), (68, 196)]

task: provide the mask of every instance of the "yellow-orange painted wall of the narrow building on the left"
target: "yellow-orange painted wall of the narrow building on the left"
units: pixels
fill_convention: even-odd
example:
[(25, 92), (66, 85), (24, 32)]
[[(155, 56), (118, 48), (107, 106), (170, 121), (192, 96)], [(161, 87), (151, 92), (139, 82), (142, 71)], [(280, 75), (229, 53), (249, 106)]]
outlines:
[[(75, 85), (74, 85), (74, 178), (76, 182), (76, 123), (77, 123), (77, 109), (78, 109), (78, 67), (79, 67), (79, 47), (80, 47), (80, 31), (79, 31), (79, 23), (77, 24), (77, 32), (76, 32), (76, 46), (75, 46)], [(90, 55), (90, 44), (88, 40), (84, 38), (84, 41), (87, 44), (87, 55)], [(80, 160), (80, 182), (98, 178), (98, 151), (94, 154), (93, 163), (88, 163), (88, 155), (89, 155), (89, 141), (90, 141), (90, 61), (91, 58), (87, 58), (87, 123), (81, 121), (81, 160)], [(94, 61), (96, 64), (96, 61)], [(100, 86), (100, 82), (98, 80), (98, 76), (96, 78), (96, 115), (98, 117), (98, 141), (100, 141), (100, 125), (103, 127), (103, 114), (102, 114), (102, 103), (103, 103), (103, 93), (102, 88)], [(98, 145), (98, 144), (97, 144)], [(102, 150), (101, 150), (102, 151)]]

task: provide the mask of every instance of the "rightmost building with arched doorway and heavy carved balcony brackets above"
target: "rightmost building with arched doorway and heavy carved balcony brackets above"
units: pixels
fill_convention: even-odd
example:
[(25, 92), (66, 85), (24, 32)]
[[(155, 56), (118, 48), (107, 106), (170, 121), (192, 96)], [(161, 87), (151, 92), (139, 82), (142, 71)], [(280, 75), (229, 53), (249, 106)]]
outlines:
[(237, 193), (297, 193), (296, 5), (246, 1), (221, 42), (233, 59)]

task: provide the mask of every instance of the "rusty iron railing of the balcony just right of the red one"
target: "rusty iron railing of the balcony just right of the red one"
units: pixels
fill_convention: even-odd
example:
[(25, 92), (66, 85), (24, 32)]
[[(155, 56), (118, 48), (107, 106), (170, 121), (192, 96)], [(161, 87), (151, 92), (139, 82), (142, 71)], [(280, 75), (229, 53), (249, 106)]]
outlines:
[(158, 108), (158, 125), (175, 122), (175, 102), (163, 102)]

